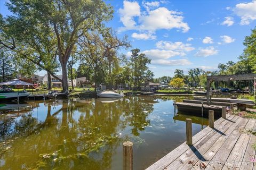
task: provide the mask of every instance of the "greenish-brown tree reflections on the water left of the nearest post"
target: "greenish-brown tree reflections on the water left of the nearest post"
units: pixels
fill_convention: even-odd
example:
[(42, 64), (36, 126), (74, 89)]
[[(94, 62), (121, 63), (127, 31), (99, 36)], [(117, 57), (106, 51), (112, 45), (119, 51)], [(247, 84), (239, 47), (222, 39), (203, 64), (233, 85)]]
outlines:
[(19, 134), (20, 138), (1, 155), (5, 161), (1, 168), (109, 169), (111, 157), (122, 143), (118, 132), (131, 126), (132, 134), (139, 135), (150, 123), (147, 117), (154, 102), (155, 98), (146, 101), (140, 97), (113, 103), (70, 99), (56, 112), (52, 112), (54, 104), (47, 103), (47, 113), (39, 113), (46, 114), (44, 122), (26, 114), (15, 123), (13, 132), (9, 129), (11, 136)]

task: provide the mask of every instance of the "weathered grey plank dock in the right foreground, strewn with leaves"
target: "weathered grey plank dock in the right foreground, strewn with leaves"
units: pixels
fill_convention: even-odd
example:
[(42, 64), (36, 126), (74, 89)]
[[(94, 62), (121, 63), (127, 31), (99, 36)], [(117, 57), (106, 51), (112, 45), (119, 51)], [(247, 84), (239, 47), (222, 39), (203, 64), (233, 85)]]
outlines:
[[(256, 136), (247, 132), (256, 128), (254, 119), (227, 115), (207, 126), (186, 142), (147, 168), (151, 169), (254, 169)], [(186, 132), (184, 132), (186, 133)]]

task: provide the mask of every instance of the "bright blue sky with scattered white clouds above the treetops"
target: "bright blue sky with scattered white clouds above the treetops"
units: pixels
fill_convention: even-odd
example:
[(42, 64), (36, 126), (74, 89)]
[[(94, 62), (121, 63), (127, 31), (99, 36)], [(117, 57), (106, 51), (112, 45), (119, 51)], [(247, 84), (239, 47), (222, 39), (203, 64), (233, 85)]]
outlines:
[[(0, 12), (9, 14), (0, 0)], [(175, 69), (216, 70), (237, 61), (243, 40), (256, 25), (256, 1), (107, 1), (115, 10), (107, 23), (128, 35), (132, 48), (151, 59), (155, 77)], [(131, 49), (132, 49), (131, 48)], [(129, 49), (130, 50), (130, 49)], [(130, 55), (129, 50), (121, 53)]]

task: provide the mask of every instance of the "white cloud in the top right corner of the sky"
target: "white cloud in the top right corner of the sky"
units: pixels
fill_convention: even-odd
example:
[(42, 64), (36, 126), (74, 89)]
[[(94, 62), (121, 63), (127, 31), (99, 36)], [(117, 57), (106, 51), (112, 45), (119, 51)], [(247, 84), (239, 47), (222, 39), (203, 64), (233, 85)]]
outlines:
[(256, 20), (256, 1), (236, 4), (234, 12), (241, 18), (241, 25), (248, 25)]

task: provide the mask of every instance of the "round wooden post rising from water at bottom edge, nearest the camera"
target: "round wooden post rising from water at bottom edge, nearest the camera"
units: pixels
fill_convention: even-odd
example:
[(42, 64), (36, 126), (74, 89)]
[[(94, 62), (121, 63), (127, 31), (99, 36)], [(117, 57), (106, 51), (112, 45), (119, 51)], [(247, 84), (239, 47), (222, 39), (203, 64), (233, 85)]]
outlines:
[(123, 170), (132, 170), (133, 168), (133, 143), (123, 142)]

